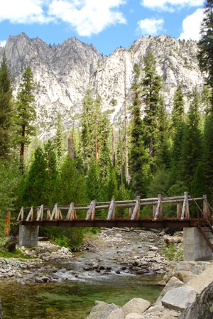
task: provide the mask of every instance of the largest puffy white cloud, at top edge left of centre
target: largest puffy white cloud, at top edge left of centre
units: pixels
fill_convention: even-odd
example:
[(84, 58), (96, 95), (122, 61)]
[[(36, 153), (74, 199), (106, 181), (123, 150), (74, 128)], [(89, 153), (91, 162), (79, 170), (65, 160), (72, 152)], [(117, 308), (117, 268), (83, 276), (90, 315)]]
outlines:
[(125, 0), (53, 0), (48, 13), (69, 23), (80, 36), (91, 36), (116, 23), (126, 23), (117, 10)]

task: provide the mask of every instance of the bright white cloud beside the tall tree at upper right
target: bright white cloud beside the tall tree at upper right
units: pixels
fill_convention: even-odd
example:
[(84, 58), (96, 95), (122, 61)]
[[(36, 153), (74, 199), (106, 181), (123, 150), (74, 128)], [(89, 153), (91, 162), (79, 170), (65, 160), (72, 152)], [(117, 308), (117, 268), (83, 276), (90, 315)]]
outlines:
[(182, 33), (180, 34), (180, 40), (199, 40), (200, 39), (200, 24), (204, 17), (203, 10), (197, 9), (190, 16), (187, 16), (182, 21)]

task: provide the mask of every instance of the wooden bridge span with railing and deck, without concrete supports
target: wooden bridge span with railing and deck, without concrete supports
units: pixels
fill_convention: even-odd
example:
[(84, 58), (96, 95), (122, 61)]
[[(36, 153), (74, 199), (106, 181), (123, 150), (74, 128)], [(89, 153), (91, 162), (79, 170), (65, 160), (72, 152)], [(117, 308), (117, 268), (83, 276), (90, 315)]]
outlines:
[[(197, 204), (202, 201), (202, 208)], [(197, 205), (197, 218), (190, 218), (190, 202)], [(173, 218), (163, 217), (163, 205), (176, 204), (177, 215)], [(141, 218), (140, 210), (145, 205), (153, 206), (153, 217)], [(116, 208), (128, 208), (129, 217), (117, 218)], [(106, 218), (96, 218), (98, 211), (107, 210)], [(84, 218), (77, 215), (86, 212)], [(97, 213), (98, 215), (98, 213)], [(65, 227), (198, 227), (210, 223), (212, 225), (212, 207), (207, 202), (207, 196), (192, 198), (187, 192), (183, 196), (145, 198), (137, 197), (136, 200), (121, 200), (111, 202), (92, 202), (87, 204), (75, 204), (55, 206), (21, 207), (18, 214), (18, 222), (22, 225), (34, 226), (65, 226)]]

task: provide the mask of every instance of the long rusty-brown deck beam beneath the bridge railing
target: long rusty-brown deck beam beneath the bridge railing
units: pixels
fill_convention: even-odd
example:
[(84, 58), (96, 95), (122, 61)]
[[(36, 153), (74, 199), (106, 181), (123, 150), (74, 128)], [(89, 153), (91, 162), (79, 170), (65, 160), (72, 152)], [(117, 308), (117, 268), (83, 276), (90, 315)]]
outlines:
[[(207, 225), (204, 218), (200, 218), (202, 227)], [(61, 227), (142, 227), (142, 228), (179, 228), (179, 227), (197, 227), (198, 219), (191, 218), (181, 220), (178, 218), (163, 218), (155, 220), (154, 218), (141, 218), (131, 220), (127, 218), (116, 218), (114, 220), (106, 219), (74, 219), (74, 220), (22, 220), (21, 225), (26, 226), (61, 226)]]

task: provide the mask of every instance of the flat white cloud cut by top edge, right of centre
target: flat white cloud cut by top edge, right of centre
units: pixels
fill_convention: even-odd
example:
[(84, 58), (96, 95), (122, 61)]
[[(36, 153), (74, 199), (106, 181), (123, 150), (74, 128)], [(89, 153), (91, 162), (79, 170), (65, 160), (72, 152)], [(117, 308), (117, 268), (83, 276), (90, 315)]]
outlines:
[(153, 10), (175, 11), (184, 6), (202, 6), (204, 0), (141, 0), (141, 6)]

